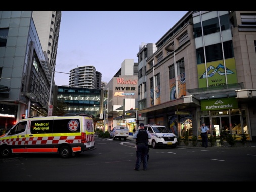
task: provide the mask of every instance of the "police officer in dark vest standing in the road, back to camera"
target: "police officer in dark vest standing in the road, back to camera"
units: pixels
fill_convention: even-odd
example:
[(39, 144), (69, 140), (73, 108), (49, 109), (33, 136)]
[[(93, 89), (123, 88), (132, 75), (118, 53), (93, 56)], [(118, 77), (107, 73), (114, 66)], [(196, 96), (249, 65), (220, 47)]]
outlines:
[(136, 139), (136, 162), (135, 162), (135, 171), (139, 171), (141, 158), (143, 156), (143, 170), (147, 170), (148, 168), (148, 139), (152, 138), (151, 134), (148, 130), (144, 129), (144, 124), (141, 123), (139, 129), (133, 134), (133, 138)]

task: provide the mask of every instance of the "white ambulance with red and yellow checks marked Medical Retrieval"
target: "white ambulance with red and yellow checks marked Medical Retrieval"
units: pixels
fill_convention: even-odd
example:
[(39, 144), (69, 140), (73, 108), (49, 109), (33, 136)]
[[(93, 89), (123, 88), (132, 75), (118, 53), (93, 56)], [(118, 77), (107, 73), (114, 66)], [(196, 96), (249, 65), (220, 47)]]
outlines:
[(96, 149), (93, 120), (85, 114), (20, 120), (0, 136), (0, 155), (57, 153), (69, 158)]

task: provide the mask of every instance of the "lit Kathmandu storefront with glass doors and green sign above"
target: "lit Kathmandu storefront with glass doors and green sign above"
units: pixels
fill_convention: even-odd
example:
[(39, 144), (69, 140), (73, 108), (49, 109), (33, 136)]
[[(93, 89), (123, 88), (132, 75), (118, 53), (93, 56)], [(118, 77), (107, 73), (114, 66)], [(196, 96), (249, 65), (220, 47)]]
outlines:
[(200, 117), (200, 124), (205, 122), (210, 128), (212, 135), (219, 136), (222, 131), (250, 135), (246, 114), (246, 109), (238, 107), (237, 99), (230, 97), (201, 100), (201, 111), (198, 112), (198, 117)]

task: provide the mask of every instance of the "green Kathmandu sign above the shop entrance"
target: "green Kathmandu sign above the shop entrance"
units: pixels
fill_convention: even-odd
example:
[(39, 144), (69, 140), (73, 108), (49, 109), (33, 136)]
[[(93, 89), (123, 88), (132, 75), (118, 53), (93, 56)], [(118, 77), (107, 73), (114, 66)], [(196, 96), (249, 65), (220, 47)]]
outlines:
[(238, 108), (238, 103), (235, 97), (201, 100), (202, 111), (235, 109), (235, 108)]

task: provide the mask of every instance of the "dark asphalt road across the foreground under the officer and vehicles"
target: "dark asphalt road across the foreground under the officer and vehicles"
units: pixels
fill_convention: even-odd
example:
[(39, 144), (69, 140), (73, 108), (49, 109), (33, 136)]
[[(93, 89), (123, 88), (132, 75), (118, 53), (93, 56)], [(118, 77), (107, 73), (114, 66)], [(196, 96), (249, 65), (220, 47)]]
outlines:
[(255, 181), (256, 148), (150, 149), (148, 170), (143, 171), (141, 165), (140, 171), (135, 171), (134, 141), (98, 137), (95, 140), (97, 149), (69, 159), (53, 154), (22, 154), (1, 158), (0, 180)]

